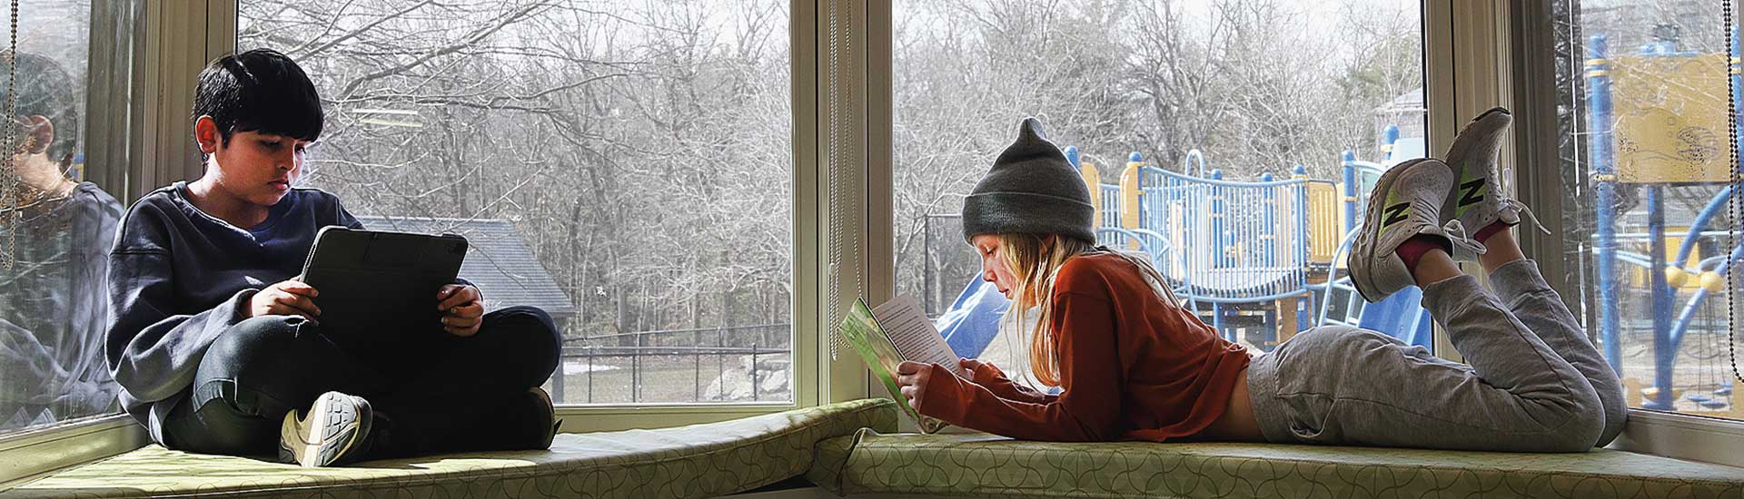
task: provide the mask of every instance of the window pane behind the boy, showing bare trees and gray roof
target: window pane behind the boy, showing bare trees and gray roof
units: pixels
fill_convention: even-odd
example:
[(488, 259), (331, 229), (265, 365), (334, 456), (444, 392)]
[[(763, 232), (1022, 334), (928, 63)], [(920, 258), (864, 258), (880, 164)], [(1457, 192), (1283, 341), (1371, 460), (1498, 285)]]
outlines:
[(558, 319), (558, 403), (788, 401), (787, 5), (249, 0), (237, 47), (321, 89), (303, 185)]

